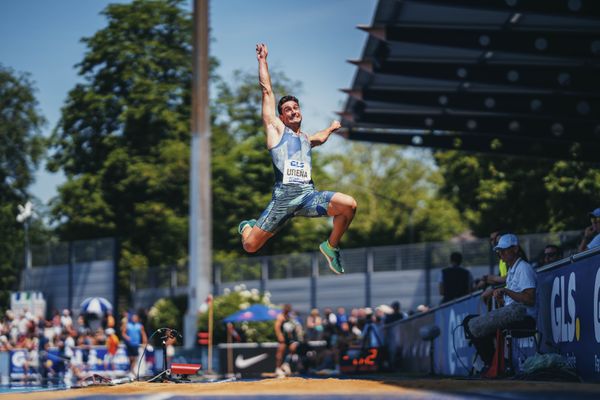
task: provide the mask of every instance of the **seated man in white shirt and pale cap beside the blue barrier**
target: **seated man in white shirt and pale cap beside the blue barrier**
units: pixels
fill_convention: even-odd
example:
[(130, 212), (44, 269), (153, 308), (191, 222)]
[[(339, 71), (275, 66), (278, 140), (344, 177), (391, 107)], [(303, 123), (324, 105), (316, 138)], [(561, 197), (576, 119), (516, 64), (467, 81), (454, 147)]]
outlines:
[(506, 287), (494, 289), (493, 292), (498, 304), (503, 307), (464, 324), (467, 337), (472, 338), (481, 359), (488, 367), (494, 356), (493, 338), (496, 330), (535, 329), (537, 315), (535, 271), (519, 256), (517, 236), (503, 235), (494, 250), (508, 267)]

